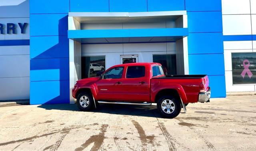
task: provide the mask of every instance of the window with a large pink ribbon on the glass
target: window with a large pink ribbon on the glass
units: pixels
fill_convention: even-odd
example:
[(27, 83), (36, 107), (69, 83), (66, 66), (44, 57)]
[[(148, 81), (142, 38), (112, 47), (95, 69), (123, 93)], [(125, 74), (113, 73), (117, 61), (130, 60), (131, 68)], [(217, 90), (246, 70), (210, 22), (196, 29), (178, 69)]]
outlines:
[(256, 53), (231, 53), (233, 84), (256, 83)]

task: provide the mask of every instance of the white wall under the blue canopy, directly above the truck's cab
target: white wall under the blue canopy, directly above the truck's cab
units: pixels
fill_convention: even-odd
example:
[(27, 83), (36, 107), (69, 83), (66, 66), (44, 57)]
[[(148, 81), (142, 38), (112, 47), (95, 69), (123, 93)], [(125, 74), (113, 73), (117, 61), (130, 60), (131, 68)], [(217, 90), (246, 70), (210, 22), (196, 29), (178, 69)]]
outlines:
[(153, 54), (176, 54), (176, 43), (82, 44), (82, 56), (106, 56), (106, 69), (121, 64), (121, 55), (138, 55), (138, 62), (153, 62)]

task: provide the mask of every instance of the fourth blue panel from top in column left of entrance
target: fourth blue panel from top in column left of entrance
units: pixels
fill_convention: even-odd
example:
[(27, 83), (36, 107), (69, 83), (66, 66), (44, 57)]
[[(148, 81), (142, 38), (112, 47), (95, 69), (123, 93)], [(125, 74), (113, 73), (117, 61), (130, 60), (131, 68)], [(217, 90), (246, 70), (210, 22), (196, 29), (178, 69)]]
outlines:
[(30, 60), (30, 81), (69, 80), (69, 58)]

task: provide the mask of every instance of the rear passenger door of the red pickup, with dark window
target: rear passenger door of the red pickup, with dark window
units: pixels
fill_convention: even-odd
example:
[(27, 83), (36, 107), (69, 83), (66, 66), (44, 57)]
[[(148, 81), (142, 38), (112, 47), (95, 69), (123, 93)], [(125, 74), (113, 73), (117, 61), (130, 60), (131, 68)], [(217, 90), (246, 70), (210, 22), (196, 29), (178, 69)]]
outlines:
[(148, 66), (127, 66), (122, 89), (124, 100), (144, 102), (150, 100)]

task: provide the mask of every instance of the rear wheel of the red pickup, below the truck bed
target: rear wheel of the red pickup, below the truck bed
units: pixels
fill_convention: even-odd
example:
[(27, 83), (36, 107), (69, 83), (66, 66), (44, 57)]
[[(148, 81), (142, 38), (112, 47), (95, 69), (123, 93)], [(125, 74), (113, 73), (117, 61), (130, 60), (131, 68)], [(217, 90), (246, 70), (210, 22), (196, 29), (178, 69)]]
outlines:
[[(168, 106), (162, 107), (162, 105), (164, 104)], [(172, 119), (180, 114), (181, 103), (175, 97), (170, 95), (165, 95), (160, 97), (160, 99), (158, 99), (157, 109), (163, 117)]]

